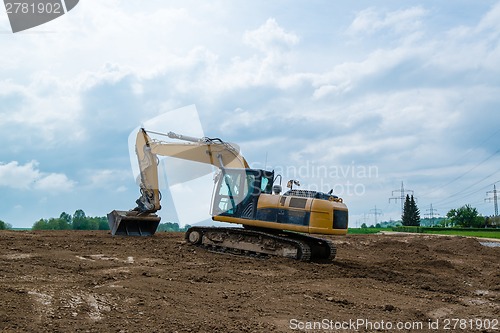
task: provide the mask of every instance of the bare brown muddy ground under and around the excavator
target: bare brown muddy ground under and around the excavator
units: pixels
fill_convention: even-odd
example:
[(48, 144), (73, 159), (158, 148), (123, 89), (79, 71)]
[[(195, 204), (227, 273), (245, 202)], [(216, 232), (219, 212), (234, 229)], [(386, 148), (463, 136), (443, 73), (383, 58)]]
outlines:
[(332, 239), (334, 262), (305, 263), (211, 253), (178, 233), (2, 231), (0, 332), (500, 332), (500, 248)]

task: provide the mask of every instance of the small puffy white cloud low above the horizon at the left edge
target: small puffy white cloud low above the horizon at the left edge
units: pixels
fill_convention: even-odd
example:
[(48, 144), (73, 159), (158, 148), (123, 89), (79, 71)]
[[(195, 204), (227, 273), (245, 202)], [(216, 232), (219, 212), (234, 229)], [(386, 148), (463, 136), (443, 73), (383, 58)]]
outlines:
[(37, 161), (0, 163), (0, 186), (18, 190), (70, 191), (76, 182), (61, 173), (41, 172)]

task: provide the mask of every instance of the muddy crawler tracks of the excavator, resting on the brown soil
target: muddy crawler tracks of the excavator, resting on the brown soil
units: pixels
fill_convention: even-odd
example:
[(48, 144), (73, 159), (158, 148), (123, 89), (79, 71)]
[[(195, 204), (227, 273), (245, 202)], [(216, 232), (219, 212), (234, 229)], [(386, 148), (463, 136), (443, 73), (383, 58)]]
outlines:
[(300, 261), (332, 260), (335, 245), (325, 239), (292, 232), (265, 232), (242, 228), (191, 227), (189, 244), (210, 251), (249, 257), (279, 256)]

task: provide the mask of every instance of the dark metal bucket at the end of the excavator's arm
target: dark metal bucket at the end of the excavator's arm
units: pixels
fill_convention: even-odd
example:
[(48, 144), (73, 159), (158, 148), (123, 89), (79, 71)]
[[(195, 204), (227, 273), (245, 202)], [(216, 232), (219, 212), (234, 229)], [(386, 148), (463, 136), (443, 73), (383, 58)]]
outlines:
[(114, 210), (108, 214), (113, 236), (153, 236), (160, 223), (156, 214), (139, 215), (136, 211)]

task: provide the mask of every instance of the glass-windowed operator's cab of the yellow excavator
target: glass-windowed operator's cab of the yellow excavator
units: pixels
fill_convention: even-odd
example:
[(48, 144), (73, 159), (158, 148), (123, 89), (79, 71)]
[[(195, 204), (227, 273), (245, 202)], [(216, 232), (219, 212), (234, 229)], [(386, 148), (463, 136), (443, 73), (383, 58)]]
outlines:
[(212, 216), (254, 219), (259, 196), (272, 193), (274, 171), (223, 168), (215, 182)]

